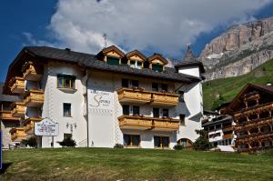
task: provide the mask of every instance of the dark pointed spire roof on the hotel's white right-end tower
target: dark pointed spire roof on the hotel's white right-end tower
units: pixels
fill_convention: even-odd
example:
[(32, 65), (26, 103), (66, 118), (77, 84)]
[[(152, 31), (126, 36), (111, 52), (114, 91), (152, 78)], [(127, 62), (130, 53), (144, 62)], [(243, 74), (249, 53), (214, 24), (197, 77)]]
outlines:
[(202, 62), (197, 60), (197, 57), (193, 55), (192, 50), (190, 46), (187, 46), (187, 53), (183, 60), (181, 60), (177, 65), (175, 65), (176, 68), (183, 67), (183, 66), (193, 66), (197, 65), (200, 68), (201, 73), (205, 73), (204, 65)]

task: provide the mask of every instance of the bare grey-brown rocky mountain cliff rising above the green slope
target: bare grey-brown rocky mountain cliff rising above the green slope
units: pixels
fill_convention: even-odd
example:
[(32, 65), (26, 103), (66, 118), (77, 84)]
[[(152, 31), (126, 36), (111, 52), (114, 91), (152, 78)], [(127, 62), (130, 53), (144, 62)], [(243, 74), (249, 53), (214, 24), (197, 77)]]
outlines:
[(273, 58), (273, 17), (233, 25), (199, 55), (206, 79), (244, 75)]

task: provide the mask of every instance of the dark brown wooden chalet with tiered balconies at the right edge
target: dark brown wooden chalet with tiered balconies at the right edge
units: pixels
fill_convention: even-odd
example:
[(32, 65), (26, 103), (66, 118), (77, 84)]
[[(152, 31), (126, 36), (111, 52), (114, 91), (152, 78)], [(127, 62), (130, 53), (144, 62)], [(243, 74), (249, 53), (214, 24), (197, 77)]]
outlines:
[(235, 118), (238, 151), (256, 151), (273, 146), (273, 86), (246, 85), (224, 114)]

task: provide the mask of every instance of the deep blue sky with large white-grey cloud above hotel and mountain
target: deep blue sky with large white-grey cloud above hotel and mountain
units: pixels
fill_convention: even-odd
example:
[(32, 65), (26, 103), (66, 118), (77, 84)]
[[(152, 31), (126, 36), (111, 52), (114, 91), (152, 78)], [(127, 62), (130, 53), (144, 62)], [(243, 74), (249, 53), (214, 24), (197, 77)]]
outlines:
[(105, 45), (182, 58), (196, 54), (229, 25), (272, 16), (273, 0), (3, 0), (1, 75), (24, 45), (96, 54)]

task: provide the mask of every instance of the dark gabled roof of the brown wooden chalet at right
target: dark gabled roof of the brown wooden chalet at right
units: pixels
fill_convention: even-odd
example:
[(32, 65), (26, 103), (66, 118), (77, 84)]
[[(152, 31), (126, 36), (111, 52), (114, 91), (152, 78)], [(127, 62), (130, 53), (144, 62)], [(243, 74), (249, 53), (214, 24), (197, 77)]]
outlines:
[(223, 111), (224, 114), (230, 114), (231, 112), (235, 111), (236, 108), (238, 108), (239, 104), (242, 102), (243, 96), (248, 92), (250, 88), (254, 88), (256, 90), (266, 92), (269, 95), (273, 96), (273, 86), (272, 85), (254, 85), (249, 84), (246, 85), (239, 93), (238, 95), (229, 103), (229, 105), (225, 108)]

